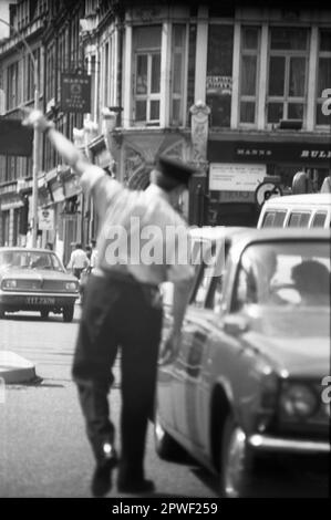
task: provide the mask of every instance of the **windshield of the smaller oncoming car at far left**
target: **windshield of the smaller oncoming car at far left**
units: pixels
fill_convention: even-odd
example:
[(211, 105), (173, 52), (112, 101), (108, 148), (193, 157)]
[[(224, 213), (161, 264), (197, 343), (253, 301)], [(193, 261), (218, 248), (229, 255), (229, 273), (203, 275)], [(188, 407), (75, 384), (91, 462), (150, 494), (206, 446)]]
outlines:
[(0, 269), (48, 269), (64, 272), (56, 254), (45, 251), (0, 251)]

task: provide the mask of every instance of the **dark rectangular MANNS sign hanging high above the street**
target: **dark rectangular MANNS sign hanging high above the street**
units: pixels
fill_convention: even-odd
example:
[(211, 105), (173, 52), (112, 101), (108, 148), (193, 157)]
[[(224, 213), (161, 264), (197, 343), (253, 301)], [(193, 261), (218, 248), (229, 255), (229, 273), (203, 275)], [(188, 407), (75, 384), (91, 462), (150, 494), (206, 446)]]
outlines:
[(61, 74), (61, 111), (79, 114), (91, 112), (91, 76)]

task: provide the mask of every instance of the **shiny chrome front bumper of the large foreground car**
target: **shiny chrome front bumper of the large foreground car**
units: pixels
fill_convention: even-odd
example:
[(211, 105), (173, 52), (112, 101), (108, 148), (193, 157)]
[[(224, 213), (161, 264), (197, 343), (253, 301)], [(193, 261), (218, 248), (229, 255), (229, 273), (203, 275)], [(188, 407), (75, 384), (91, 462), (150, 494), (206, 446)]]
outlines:
[(251, 435), (247, 439), (248, 445), (255, 451), (282, 453), (282, 454), (330, 454), (330, 443), (323, 440), (302, 440), (271, 437), (265, 435)]

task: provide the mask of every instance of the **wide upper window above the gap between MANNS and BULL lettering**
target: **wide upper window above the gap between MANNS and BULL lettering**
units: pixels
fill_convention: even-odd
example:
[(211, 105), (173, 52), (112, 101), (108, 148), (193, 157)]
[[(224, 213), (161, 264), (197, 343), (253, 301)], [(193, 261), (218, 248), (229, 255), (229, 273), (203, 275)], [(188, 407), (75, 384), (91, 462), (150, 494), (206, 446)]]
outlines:
[(308, 30), (271, 28), (267, 121), (304, 119)]

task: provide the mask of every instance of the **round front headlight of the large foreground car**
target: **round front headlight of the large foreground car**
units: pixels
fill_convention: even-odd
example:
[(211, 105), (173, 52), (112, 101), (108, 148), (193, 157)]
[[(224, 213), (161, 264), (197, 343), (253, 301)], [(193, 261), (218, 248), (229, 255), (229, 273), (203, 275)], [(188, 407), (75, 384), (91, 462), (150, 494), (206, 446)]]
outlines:
[(283, 388), (280, 409), (285, 418), (304, 418), (314, 414), (319, 403), (314, 392), (303, 384), (291, 384)]

